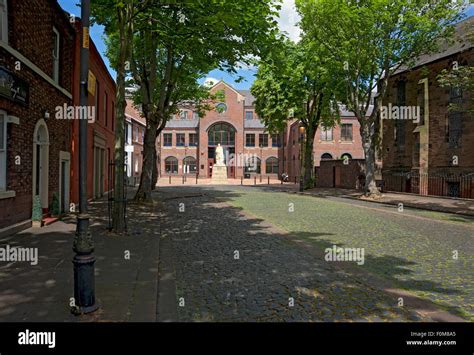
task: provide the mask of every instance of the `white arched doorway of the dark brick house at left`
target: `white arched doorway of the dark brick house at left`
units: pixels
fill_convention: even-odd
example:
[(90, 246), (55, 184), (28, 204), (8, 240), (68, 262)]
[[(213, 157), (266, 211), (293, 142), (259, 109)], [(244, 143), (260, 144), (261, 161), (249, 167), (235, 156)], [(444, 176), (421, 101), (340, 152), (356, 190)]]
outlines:
[(38, 195), (43, 210), (48, 209), (49, 132), (46, 122), (36, 123), (33, 135), (33, 197)]

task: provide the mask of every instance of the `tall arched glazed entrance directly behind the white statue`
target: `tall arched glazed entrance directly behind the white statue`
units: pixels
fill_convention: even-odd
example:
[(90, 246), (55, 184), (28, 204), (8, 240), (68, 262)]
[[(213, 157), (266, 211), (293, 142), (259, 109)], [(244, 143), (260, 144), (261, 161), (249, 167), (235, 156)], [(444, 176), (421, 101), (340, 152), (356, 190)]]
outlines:
[[(224, 159), (227, 165), (227, 176), (235, 178), (235, 166), (231, 164), (230, 157), (235, 155), (236, 129), (229, 123), (217, 122), (207, 131), (208, 137), (208, 177), (212, 177), (212, 167), (215, 163), (216, 147), (220, 144), (224, 149)], [(234, 160), (235, 161), (235, 160)]]

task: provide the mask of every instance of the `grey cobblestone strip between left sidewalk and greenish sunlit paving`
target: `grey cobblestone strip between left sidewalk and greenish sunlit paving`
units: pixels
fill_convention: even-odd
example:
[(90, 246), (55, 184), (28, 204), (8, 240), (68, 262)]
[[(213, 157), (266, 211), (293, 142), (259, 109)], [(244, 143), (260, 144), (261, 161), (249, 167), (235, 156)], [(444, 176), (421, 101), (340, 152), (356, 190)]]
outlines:
[(160, 189), (167, 212), (162, 249), (172, 254), (178, 320), (430, 320), (300, 239), (222, 202), (239, 191)]

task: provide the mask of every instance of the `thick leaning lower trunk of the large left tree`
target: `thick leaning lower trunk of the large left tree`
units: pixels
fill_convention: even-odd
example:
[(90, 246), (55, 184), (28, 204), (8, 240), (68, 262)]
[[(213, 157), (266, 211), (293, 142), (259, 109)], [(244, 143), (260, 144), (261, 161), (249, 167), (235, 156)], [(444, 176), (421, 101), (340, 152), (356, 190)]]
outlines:
[(150, 202), (153, 170), (156, 169), (156, 129), (157, 124), (150, 117), (147, 118), (147, 127), (145, 130), (145, 141), (143, 143), (143, 167), (140, 176), (140, 186), (138, 187), (135, 201)]

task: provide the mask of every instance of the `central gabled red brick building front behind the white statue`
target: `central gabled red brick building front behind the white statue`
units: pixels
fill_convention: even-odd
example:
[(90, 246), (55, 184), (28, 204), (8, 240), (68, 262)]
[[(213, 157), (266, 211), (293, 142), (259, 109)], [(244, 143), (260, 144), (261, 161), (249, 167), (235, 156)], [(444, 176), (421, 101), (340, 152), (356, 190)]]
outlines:
[(158, 141), (160, 176), (196, 175), (212, 177), (215, 150), (224, 148), (228, 178), (262, 176), (276, 178), (279, 167), (278, 135), (270, 135), (255, 113), (248, 90), (235, 90), (220, 81), (211, 92), (222, 90), (225, 101), (199, 118), (183, 109), (161, 132)]

